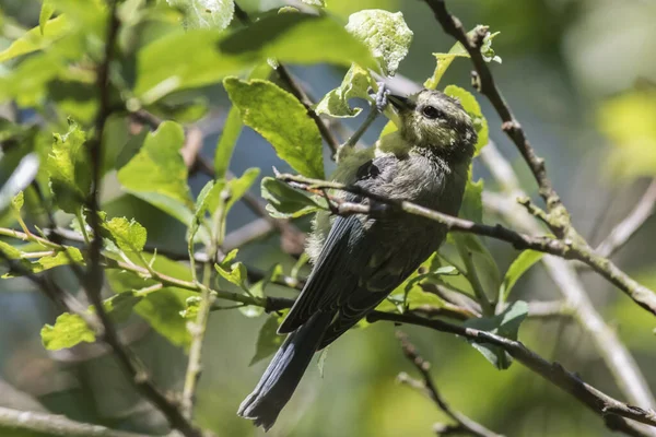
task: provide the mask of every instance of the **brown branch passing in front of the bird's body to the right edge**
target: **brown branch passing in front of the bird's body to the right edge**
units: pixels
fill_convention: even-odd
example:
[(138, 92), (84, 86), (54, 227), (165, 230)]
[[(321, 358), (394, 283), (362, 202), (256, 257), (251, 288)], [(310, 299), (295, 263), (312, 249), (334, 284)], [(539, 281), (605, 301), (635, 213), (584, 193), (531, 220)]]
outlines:
[(320, 190), (335, 189), (363, 196), (375, 202), (370, 204), (344, 202), (341, 199), (329, 197), (335, 204), (332, 212), (340, 215), (367, 214), (384, 215), (405, 211), (410, 214), (419, 215), (446, 226), (448, 231), (476, 234), (484, 237), (495, 238), (509, 243), (517, 250), (538, 250), (544, 253), (555, 255), (567, 260), (578, 260), (588, 264), (593, 270), (604, 276), (607, 281), (614, 284), (620, 291), (626, 294), (637, 305), (647, 311), (656, 315), (656, 294), (653, 291), (639, 284), (618, 268), (612, 261), (600, 257), (585, 243), (573, 239), (560, 239), (549, 236), (530, 236), (504, 227), (500, 224), (489, 226), (481, 223), (475, 223), (465, 218), (455, 217), (430, 210), (405, 200), (388, 199), (366, 191), (358, 186), (347, 186), (339, 182), (329, 182), (325, 180), (311, 179), (302, 176), (289, 174), (278, 175), (282, 181), (290, 186), (305, 190), (312, 193), (318, 193)]

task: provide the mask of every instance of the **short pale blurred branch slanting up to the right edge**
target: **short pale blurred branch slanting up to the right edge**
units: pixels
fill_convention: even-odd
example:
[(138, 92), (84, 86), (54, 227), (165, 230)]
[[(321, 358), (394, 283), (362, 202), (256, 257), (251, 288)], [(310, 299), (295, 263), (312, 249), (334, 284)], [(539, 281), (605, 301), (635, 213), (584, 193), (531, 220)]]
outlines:
[(629, 241), (629, 239), (645, 224), (656, 211), (656, 179), (647, 187), (643, 197), (626, 215), (610, 232), (608, 237), (595, 250), (600, 257), (609, 258)]

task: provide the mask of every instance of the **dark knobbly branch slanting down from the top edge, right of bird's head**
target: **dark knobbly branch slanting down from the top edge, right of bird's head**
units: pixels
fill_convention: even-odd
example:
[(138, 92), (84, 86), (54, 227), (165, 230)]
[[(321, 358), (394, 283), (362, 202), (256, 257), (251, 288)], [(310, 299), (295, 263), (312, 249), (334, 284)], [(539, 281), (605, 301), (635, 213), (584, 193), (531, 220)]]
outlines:
[(547, 176), (544, 168), (544, 160), (538, 156), (529, 143), (522, 125), (517, 121), (511, 107), (502, 97), (490, 68), (483, 55), (481, 54), (481, 44), (488, 29), (485, 27), (479, 27), (478, 32), (469, 37), (462, 23), (452, 15), (447, 9), (444, 0), (425, 0), (431, 10), (433, 11), (435, 19), (440, 22), (445, 33), (456, 38), (467, 50), (477, 73), (477, 84), (479, 91), (483, 94), (494, 109), (499, 114), (502, 120), (502, 130), (511, 138), (511, 140), (517, 146), (517, 150), (528, 164), (536, 181), (539, 186), (540, 196), (547, 204), (547, 209), (550, 213), (550, 225), (551, 228), (557, 233), (559, 237), (565, 235), (565, 231), (569, 227), (569, 215), (561, 202), (560, 197), (553, 189), (551, 180)]

